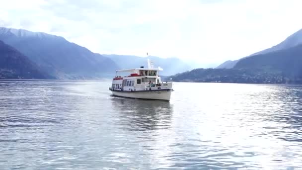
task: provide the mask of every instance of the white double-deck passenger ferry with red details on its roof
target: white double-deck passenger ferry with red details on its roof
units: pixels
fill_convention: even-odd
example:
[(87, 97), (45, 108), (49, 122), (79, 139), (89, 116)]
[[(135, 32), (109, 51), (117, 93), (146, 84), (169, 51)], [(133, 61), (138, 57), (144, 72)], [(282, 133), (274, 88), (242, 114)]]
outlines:
[[(117, 70), (109, 90), (120, 97), (170, 100), (172, 82), (161, 82), (160, 67), (154, 68), (148, 59), (148, 68)], [(121, 76), (128, 73), (127, 76)]]

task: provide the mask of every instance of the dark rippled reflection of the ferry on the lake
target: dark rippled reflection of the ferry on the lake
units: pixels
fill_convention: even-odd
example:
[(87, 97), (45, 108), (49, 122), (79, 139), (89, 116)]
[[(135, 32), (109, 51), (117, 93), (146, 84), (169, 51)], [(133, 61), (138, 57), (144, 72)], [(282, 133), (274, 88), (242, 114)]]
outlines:
[(166, 101), (113, 97), (113, 109), (118, 111), (123, 128), (134, 131), (167, 129), (171, 124), (172, 106)]

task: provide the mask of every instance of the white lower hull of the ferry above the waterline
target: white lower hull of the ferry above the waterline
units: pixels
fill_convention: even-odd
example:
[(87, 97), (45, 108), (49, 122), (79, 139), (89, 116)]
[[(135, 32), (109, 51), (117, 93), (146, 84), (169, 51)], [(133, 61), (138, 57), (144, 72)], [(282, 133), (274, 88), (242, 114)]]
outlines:
[(153, 99), (153, 100), (170, 100), (171, 90), (146, 90), (146, 91), (116, 91), (112, 94), (120, 97)]

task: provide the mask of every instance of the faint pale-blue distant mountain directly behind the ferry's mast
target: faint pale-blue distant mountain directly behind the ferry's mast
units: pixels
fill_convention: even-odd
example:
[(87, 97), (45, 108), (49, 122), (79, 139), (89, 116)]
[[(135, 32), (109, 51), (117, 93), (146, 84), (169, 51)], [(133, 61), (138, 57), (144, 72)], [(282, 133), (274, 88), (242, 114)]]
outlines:
[(161, 67), (163, 71), (161, 75), (169, 76), (176, 73), (185, 72), (192, 68), (178, 58), (159, 58), (155, 56), (138, 57), (138, 56), (127, 56), (127, 55), (106, 55), (103, 56), (112, 59), (121, 69), (132, 69), (140, 66), (147, 67), (147, 59), (153, 62), (154, 67)]

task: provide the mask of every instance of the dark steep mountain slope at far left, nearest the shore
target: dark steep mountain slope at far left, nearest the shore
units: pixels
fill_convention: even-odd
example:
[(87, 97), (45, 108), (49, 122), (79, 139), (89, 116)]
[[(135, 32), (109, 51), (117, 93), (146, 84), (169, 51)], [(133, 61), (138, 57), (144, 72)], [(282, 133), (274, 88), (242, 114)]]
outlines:
[(13, 47), (0, 41), (0, 79), (52, 79)]

